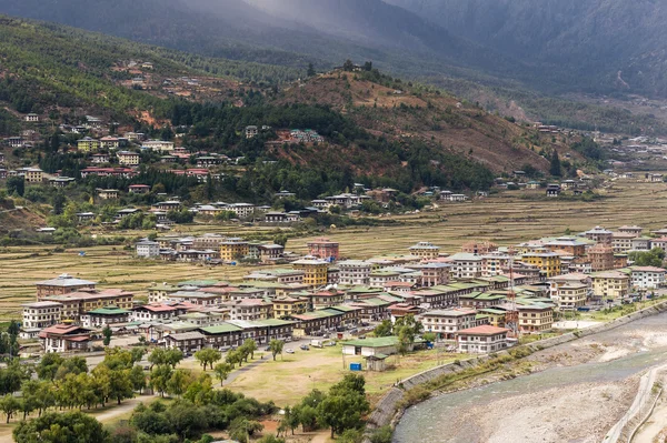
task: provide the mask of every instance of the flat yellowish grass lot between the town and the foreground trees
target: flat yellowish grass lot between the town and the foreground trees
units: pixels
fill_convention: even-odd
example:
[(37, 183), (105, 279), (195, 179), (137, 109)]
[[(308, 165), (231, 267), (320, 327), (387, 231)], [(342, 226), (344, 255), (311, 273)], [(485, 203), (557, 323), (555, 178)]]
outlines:
[[(344, 359), (340, 345), (295, 351), (293, 354), (285, 353), (282, 359), (278, 356), (276, 361), (271, 360), (242, 373), (233, 382), (226, 383), (226, 386), (260, 401), (272, 400), (279, 406), (293, 405), (312, 389), (327, 391), (349, 373), (350, 363), (366, 365), (361, 356), (345, 355)], [(419, 351), (406, 356), (392, 355), (387, 360), (388, 366), (392, 368), (387, 371), (364, 372), (366, 391), (371, 402), (375, 402), (396, 381), (452, 362), (457, 358), (461, 355), (437, 350)]]

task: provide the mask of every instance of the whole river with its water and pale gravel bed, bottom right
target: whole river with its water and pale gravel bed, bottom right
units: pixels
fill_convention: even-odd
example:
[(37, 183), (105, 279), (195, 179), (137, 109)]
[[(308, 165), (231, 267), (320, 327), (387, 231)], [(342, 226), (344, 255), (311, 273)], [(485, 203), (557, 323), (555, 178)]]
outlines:
[[(587, 423), (603, 432), (631, 402), (634, 387), (628, 380), (665, 362), (667, 313), (540, 352), (566, 354), (584, 344), (609, 349), (609, 354), (619, 356), (554, 365), (530, 375), (430, 399), (406, 411), (394, 442), (595, 441), (585, 434)], [(532, 424), (524, 423), (527, 421)], [(563, 427), (570, 424), (571, 431), (563, 440)], [(577, 426), (581, 430), (577, 431)], [(541, 433), (536, 435), (537, 429)], [(579, 433), (584, 436), (579, 437)]]

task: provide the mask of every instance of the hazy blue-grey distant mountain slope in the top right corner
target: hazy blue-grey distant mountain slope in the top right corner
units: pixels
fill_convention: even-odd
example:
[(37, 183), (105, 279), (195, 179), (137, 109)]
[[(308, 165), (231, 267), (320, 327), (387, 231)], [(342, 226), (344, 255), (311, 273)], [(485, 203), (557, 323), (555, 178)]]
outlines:
[(667, 62), (664, 1), (386, 1), (457, 36), (511, 53), (535, 69), (538, 81), (549, 80), (563, 90), (575, 85), (667, 95), (661, 74)]

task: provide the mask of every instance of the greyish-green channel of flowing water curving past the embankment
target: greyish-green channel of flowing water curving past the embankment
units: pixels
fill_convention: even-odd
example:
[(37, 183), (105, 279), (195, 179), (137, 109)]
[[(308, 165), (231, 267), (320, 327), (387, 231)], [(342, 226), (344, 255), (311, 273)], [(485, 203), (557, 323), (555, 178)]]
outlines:
[[(641, 331), (641, 333), (637, 333)], [(400, 420), (394, 443), (484, 443), (476, 420), (456, 420), (472, 407), (502, 397), (565, 387), (575, 384), (616, 382), (637, 374), (667, 359), (667, 342), (647, 336), (667, 334), (667, 313), (643, 319), (585, 340), (619, 344), (630, 350), (626, 356), (609, 362), (590, 362), (574, 366), (555, 366), (530, 375), (487, 384), (466, 391), (439, 395), (410, 407)], [(552, 350), (567, 350), (571, 343)], [(569, 348), (571, 349), (571, 348)], [(567, 414), (567, 411), (559, 411)], [(511, 424), (508, 424), (511, 425)], [(509, 442), (508, 442), (509, 443)]]

